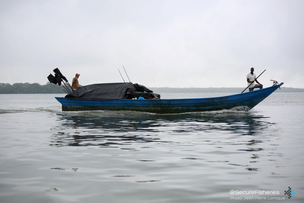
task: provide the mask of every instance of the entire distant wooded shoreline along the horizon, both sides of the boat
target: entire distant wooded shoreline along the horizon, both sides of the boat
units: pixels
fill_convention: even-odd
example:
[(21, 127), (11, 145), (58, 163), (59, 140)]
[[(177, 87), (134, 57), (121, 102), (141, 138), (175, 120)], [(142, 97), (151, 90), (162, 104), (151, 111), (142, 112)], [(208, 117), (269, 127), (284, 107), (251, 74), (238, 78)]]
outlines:
[[(208, 87), (208, 88), (173, 88), (173, 87), (148, 87), (155, 93), (241, 93), (246, 87)], [(247, 92), (246, 90), (245, 92)], [(281, 87), (275, 92), (304, 92), (304, 88)], [(0, 83), (0, 94), (65, 94), (63, 87), (47, 82), (39, 83)]]

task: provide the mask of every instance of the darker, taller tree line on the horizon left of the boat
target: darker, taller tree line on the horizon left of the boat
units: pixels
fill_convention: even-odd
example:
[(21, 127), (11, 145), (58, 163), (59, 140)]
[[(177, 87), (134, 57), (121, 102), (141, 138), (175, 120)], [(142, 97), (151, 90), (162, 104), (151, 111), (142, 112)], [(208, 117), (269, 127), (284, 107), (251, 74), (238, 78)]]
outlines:
[(63, 87), (47, 82), (45, 85), (39, 83), (0, 83), (0, 94), (52, 94), (65, 93)]

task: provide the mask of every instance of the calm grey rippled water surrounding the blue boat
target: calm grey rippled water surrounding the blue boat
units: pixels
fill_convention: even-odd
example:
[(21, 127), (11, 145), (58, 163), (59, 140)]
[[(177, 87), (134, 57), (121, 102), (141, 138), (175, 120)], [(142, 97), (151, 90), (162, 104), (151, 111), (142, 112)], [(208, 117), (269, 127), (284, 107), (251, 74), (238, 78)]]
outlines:
[(2, 94), (0, 202), (304, 202), (304, 93), (278, 91), (248, 112), (165, 115), (62, 112), (63, 94)]

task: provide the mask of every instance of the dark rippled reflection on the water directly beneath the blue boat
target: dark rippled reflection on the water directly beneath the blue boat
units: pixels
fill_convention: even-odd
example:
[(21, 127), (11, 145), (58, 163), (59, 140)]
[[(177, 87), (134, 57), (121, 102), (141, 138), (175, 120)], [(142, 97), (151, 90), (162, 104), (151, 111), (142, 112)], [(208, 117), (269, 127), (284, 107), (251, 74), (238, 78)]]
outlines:
[[(278, 135), (277, 124), (269, 123), (267, 117), (254, 112), (214, 111), (151, 115), (130, 111), (91, 111), (83, 114), (56, 114), (60, 125), (52, 128), (57, 132), (51, 136), (51, 145), (119, 148), (146, 147), (141, 146), (144, 143), (188, 145), (188, 141), (181, 142), (171, 138), (177, 135), (195, 135), (198, 139), (204, 137), (204, 144), (248, 145), (248, 148), (242, 147), (239, 150), (259, 151), (254, 145), (265, 141), (263, 134), (267, 134), (267, 140)], [(249, 137), (243, 139), (244, 136)], [(243, 138), (241, 142), (232, 143), (232, 137)], [(135, 143), (142, 144), (134, 146)]]

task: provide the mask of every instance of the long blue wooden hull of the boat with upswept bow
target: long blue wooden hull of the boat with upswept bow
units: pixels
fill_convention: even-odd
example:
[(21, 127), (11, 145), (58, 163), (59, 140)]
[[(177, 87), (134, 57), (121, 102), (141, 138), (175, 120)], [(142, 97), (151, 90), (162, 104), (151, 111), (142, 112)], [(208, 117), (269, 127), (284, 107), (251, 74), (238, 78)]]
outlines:
[(63, 111), (79, 110), (131, 110), (150, 113), (184, 113), (195, 111), (211, 111), (231, 109), (237, 106), (253, 108), (276, 89), (278, 85), (229, 96), (195, 99), (79, 99), (55, 97)]

